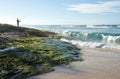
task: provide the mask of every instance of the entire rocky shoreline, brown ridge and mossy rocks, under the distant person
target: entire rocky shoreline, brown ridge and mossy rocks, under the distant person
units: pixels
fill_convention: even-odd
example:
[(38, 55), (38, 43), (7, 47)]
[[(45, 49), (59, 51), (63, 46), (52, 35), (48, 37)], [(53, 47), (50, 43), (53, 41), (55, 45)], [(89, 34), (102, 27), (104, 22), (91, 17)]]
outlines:
[[(0, 25), (0, 78), (26, 79), (82, 60), (80, 49), (60, 41), (55, 33)], [(14, 49), (10, 49), (13, 47)]]

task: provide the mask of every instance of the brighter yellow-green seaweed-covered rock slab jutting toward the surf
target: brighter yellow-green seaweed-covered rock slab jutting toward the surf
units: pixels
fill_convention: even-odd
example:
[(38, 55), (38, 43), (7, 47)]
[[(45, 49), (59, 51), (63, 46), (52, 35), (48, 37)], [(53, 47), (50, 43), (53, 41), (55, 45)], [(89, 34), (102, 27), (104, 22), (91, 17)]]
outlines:
[(30, 50), (30, 52), (36, 55), (32, 56), (36, 57), (37, 60), (40, 60), (39, 55), (41, 55), (42, 59), (45, 59), (41, 61), (49, 62), (52, 66), (81, 60), (79, 48), (58, 39), (32, 37), (17, 40), (12, 45)]

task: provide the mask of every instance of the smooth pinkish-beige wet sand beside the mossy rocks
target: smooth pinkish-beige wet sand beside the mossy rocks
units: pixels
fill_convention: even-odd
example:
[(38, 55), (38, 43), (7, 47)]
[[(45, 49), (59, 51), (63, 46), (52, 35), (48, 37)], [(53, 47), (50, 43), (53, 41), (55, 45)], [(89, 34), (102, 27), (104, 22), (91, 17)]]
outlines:
[(83, 49), (82, 53), (84, 61), (29, 79), (120, 79), (120, 51)]

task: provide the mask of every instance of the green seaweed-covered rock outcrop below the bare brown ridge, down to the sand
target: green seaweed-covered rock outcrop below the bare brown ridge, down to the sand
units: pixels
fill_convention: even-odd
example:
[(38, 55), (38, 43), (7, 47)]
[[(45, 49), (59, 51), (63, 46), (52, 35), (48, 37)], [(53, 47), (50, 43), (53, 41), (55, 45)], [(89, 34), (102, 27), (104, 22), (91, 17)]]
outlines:
[(80, 49), (52, 38), (24, 38), (0, 53), (0, 78), (22, 79), (53, 71), (53, 66), (81, 60)]

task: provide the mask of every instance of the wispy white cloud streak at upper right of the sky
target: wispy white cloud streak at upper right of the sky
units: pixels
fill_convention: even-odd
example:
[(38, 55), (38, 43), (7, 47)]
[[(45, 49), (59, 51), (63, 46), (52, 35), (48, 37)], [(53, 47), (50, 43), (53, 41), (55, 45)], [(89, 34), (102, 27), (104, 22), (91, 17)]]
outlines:
[(120, 1), (98, 2), (96, 4), (83, 3), (70, 5), (68, 10), (80, 13), (120, 13)]

